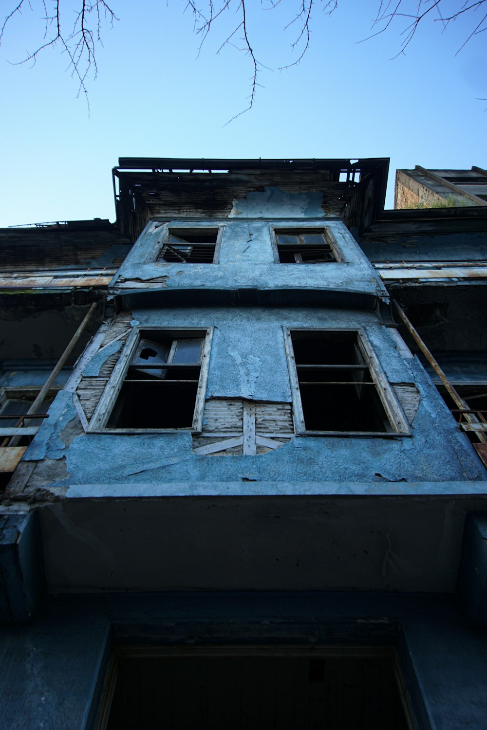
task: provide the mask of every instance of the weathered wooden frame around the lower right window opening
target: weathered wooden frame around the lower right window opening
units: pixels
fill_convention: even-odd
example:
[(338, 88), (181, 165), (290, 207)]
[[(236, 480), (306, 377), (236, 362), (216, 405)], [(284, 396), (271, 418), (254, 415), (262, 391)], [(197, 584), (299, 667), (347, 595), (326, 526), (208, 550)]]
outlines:
[[(294, 358), (294, 348), (291, 333), (310, 332), (311, 334), (323, 333), (347, 333), (356, 334), (356, 342), (361, 355), (364, 358), (372, 381), (375, 383), (377, 396), (383, 405), (386, 416), (391, 425), (392, 431), (311, 431), (304, 423), (304, 412), (299, 391), (299, 378)], [(285, 353), (288, 359), (289, 380), (293, 399), (293, 418), (296, 434), (305, 436), (353, 436), (353, 437), (404, 437), (411, 436), (407, 418), (404, 415), (401, 405), (394, 394), (391, 384), (388, 382), (385, 372), (373, 350), (372, 345), (361, 327), (283, 327)]]

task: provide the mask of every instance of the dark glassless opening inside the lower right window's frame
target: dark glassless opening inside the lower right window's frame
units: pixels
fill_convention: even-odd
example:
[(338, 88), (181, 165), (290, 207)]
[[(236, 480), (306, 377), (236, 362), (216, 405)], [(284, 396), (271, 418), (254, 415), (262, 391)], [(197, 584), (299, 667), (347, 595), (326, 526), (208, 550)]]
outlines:
[(307, 431), (391, 431), (356, 332), (292, 332)]

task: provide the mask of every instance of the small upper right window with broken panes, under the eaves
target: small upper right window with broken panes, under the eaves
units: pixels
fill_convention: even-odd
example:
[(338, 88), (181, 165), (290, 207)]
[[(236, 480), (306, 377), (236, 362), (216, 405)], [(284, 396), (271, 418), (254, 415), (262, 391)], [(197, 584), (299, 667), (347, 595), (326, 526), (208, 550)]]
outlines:
[(280, 264), (329, 264), (342, 261), (328, 228), (306, 231), (276, 230), (277, 261)]

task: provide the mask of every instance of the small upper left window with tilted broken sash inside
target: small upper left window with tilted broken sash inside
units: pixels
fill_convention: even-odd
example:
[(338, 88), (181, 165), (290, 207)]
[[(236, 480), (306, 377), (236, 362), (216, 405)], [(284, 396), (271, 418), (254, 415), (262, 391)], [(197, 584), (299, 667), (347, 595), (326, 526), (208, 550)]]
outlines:
[(156, 261), (166, 264), (215, 264), (218, 228), (170, 228)]

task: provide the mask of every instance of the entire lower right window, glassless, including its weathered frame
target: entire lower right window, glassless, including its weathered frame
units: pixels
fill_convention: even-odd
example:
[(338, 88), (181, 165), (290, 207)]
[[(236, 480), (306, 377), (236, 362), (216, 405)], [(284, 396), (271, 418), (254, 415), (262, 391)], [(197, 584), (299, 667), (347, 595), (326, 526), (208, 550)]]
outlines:
[(391, 386), (358, 331), (287, 331), (286, 349), (298, 433), (408, 432)]

